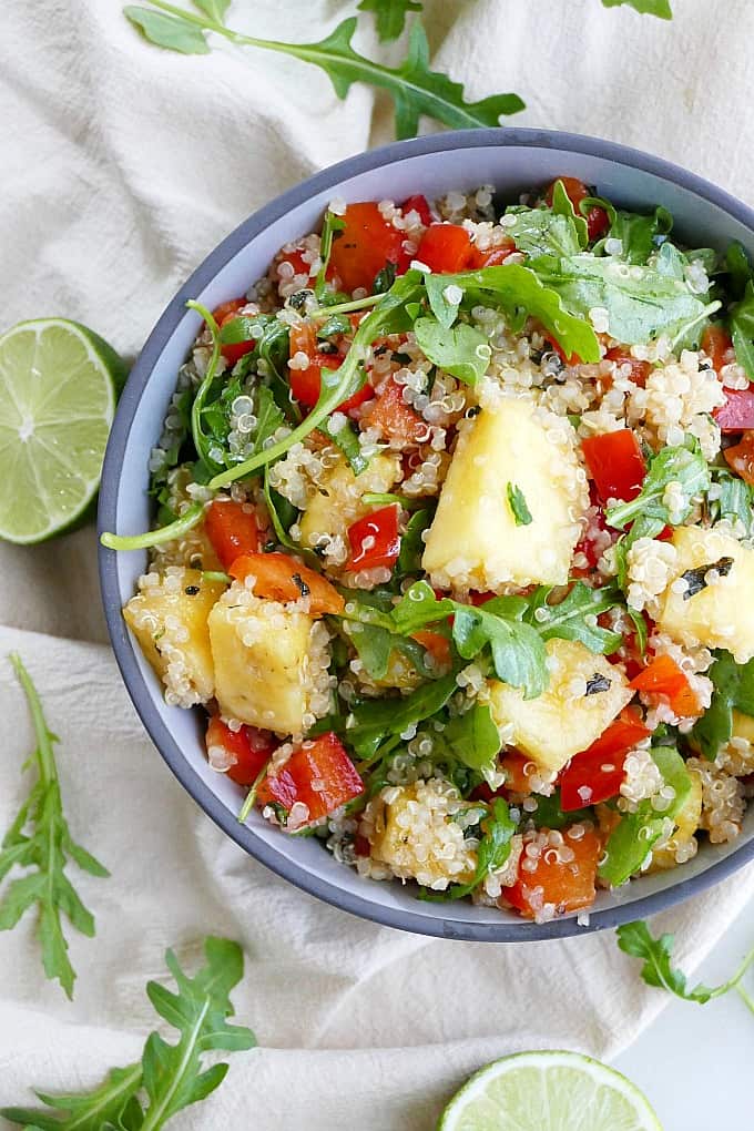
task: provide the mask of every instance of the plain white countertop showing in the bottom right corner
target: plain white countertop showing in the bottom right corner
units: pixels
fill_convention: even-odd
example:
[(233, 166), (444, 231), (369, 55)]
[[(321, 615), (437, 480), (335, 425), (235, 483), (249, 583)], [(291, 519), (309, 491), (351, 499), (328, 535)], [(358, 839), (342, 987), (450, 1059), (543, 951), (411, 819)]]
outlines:
[[(754, 903), (690, 983), (725, 982), (752, 947)], [(636, 960), (636, 976), (639, 969)], [(754, 972), (745, 984), (751, 991)], [(731, 992), (705, 1005), (674, 998), (614, 1067), (647, 1094), (664, 1131), (751, 1131), (753, 1054), (754, 1015)]]

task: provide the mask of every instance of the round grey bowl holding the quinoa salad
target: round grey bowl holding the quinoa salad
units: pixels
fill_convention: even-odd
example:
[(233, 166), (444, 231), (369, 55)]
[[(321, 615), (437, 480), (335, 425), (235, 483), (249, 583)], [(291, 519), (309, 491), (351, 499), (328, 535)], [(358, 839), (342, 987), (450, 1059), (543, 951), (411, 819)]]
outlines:
[[(754, 211), (708, 181), (636, 149), (548, 130), (483, 129), (437, 133), (385, 146), (340, 162), (283, 193), (245, 221), (193, 273), (170, 303), (129, 378), (105, 455), (99, 493), (101, 530), (147, 529), (147, 464), (161, 432), (176, 372), (200, 327), (188, 299), (214, 309), (242, 294), (263, 275), (288, 240), (314, 231), (330, 199), (402, 200), (415, 192), (436, 197), (450, 189), (494, 184), (504, 200), (551, 182), (578, 176), (622, 205), (639, 210), (664, 205), (681, 238), (694, 247), (722, 249), (738, 240), (754, 256)], [(604, 930), (703, 891), (754, 857), (754, 809), (731, 845), (702, 845), (683, 867), (601, 892), (588, 926), (574, 916), (536, 924), (468, 903), (419, 903), (398, 881), (376, 883), (338, 864), (314, 839), (286, 837), (252, 814), (239, 824), (242, 791), (209, 769), (201, 714), (168, 707), (161, 684), (129, 636), (121, 606), (132, 595), (146, 554), (99, 550), (105, 614), (129, 694), (155, 745), (203, 811), (255, 860), (297, 887), (344, 910), (388, 926), (445, 939), (522, 942)]]

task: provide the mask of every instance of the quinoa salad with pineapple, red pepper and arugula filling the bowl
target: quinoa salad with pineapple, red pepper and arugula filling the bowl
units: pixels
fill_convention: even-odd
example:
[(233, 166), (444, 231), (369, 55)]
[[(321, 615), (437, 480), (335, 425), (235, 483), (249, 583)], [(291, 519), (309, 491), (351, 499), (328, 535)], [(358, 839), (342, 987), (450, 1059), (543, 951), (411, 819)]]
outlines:
[(211, 771), (364, 882), (548, 922), (754, 792), (754, 291), (562, 176), (332, 198), (209, 310), (123, 616)]

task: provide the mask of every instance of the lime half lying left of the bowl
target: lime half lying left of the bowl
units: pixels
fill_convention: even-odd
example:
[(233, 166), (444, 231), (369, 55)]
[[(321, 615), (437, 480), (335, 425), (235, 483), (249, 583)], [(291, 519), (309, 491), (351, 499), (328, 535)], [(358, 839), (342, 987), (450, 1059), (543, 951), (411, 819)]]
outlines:
[(38, 318), (0, 337), (0, 538), (42, 542), (83, 516), (124, 378), (78, 322)]

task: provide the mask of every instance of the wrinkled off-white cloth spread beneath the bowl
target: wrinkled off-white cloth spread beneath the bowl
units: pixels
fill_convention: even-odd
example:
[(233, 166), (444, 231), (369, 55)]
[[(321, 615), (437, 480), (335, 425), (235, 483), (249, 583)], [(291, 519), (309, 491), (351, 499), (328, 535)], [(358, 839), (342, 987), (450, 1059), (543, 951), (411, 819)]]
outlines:
[[(515, 89), (521, 124), (603, 135), (751, 197), (746, 113), (754, 8), (676, 0), (674, 24), (598, 0), (435, 0), (435, 61), (482, 97)], [(714, 10), (713, 10), (714, 7)], [(312, 41), (350, 14), (335, 0), (234, 5), (234, 23)], [(371, 33), (359, 33), (367, 50)], [(716, 44), (725, 61), (713, 57)], [(226, 46), (184, 58), (144, 43), (114, 0), (36, 0), (0, 41), (3, 321), (79, 319), (133, 354), (191, 268), (244, 216), (318, 166), (388, 136), (390, 115), (294, 60)], [(735, 107), (739, 107), (736, 112)], [(373, 113), (374, 110), (374, 113)], [(52, 727), (75, 836), (113, 873), (76, 877), (96, 940), (70, 933), (69, 1004), (45, 983), (33, 917), (0, 935), (0, 1104), (94, 1083), (137, 1055), (163, 951), (237, 939), (239, 1017), (263, 1051), (185, 1112), (187, 1129), (430, 1131), (463, 1077), (508, 1051), (609, 1057), (664, 1004), (613, 933), (515, 947), (361, 922), (248, 858), (202, 815), (147, 741), (105, 641), (90, 529), (0, 546), (0, 656), (17, 648)], [(23, 694), (0, 663), (0, 829), (25, 795)], [(655, 924), (697, 962), (754, 889), (739, 873)]]

